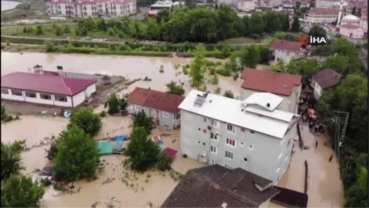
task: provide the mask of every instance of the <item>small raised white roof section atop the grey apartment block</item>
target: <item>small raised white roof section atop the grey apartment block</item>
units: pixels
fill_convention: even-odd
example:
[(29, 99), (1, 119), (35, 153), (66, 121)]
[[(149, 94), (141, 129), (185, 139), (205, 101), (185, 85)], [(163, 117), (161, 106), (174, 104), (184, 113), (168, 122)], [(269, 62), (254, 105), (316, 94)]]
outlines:
[(282, 97), (272, 93), (253, 93), (244, 101), (242, 101), (242, 105), (244, 105), (244, 107), (257, 105), (265, 110), (273, 111), (280, 103), (282, 103), (283, 100), (284, 99)]

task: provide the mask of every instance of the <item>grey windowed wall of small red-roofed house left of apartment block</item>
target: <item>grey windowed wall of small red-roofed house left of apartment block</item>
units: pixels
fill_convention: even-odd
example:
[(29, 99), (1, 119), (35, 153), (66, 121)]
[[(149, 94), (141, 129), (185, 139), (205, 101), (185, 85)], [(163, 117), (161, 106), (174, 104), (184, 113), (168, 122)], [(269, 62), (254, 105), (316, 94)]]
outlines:
[[(136, 106), (141, 106), (141, 105), (136, 105), (136, 104), (130, 104), (128, 107), (128, 113), (130, 114), (134, 114), (137, 113), (139, 110), (136, 109)], [(148, 107), (144, 107), (141, 106), (141, 109), (145, 111), (146, 115), (153, 117), (153, 121), (157, 124), (160, 125), (161, 127), (165, 127), (164, 124), (168, 125), (169, 128), (168, 129), (173, 129), (177, 126), (180, 125), (180, 120), (175, 120), (174, 118), (174, 113), (169, 113), (169, 117), (166, 118), (164, 117), (163, 111), (160, 110), (156, 110), (154, 108), (148, 108)], [(155, 113), (156, 112), (156, 116)], [(155, 117), (154, 117), (155, 116)]]

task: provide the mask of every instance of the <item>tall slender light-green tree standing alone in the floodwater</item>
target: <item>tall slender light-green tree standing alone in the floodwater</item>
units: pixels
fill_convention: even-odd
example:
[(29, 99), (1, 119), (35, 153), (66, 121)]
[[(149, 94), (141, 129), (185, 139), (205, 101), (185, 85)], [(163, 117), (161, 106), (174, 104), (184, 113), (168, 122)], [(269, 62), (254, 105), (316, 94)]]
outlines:
[(190, 64), (189, 76), (191, 77), (191, 84), (193, 87), (199, 87), (204, 81), (204, 51), (203, 46), (197, 46), (194, 60)]

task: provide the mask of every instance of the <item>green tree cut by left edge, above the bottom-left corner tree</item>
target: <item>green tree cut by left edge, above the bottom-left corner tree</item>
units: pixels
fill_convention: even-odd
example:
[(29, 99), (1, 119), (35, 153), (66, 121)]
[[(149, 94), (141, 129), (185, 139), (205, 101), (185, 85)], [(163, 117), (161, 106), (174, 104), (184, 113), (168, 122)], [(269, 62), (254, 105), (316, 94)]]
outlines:
[(19, 174), (24, 170), (21, 165), (21, 151), (19, 141), (11, 144), (1, 142), (1, 180), (5, 180), (13, 174)]

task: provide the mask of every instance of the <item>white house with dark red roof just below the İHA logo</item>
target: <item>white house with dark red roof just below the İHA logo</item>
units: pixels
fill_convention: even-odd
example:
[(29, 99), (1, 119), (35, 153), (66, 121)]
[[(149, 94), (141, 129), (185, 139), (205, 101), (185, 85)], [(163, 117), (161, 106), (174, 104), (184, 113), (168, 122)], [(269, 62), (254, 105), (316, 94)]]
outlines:
[(300, 59), (310, 56), (313, 47), (301, 46), (300, 42), (276, 39), (269, 48), (274, 53), (274, 60), (270, 64), (277, 64), (280, 59), (288, 64), (294, 59)]

